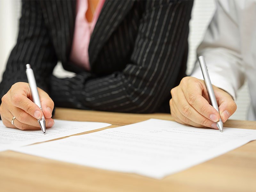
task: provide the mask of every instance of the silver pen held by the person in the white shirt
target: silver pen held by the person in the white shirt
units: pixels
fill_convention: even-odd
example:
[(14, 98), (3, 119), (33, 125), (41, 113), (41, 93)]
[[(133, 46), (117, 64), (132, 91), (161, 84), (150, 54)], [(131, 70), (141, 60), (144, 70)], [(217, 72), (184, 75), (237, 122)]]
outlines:
[[(206, 63), (205, 63), (205, 60), (204, 60), (204, 56), (199, 56), (198, 59), (199, 59), (200, 67), (201, 67), (201, 70), (202, 70), (202, 73), (203, 73), (203, 76), (204, 76), (204, 83), (205, 83), (205, 86), (206, 86), (206, 89), (207, 89), (207, 92), (208, 92), (208, 95), (209, 95), (209, 98), (210, 98), (210, 101), (211, 101), (211, 105), (212, 105), (212, 107), (214, 107), (218, 111), (218, 113), (220, 113), (219, 106), (217, 104), (216, 97), (215, 97), (215, 94), (213, 92), (210, 76), (208, 74), (208, 69), (207, 69), (207, 66), (206, 66)], [(217, 127), (222, 132), (223, 123), (221, 121), (221, 118), (217, 122)]]

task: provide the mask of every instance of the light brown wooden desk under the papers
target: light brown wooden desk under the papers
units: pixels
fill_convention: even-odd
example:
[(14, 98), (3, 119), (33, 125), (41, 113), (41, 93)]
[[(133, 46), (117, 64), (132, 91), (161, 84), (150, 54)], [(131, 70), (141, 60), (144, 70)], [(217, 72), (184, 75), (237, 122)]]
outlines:
[[(173, 120), (169, 114), (124, 114), (64, 108), (56, 109), (55, 118), (106, 122), (113, 124), (111, 127), (148, 118)], [(256, 122), (229, 120), (225, 126), (256, 129)], [(162, 180), (4, 151), (0, 153), (0, 191), (255, 192), (256, 141)]]

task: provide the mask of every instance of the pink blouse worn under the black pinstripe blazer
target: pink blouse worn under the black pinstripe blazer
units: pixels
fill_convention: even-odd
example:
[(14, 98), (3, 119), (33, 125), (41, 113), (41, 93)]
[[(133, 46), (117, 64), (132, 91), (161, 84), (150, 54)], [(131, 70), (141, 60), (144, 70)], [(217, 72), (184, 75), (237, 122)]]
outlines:
[(104, 2), (105, 0), (99, 1), (91, 23), (85, 18), (85, 12), (88, 9), (88, 1), (77, 0), (76, 4), (75, 31), (70, 52), (70, 60), (76, 65), (85, 68), (87, 71), (90, 71), (91, 69), (88, 53), (90, 38)]

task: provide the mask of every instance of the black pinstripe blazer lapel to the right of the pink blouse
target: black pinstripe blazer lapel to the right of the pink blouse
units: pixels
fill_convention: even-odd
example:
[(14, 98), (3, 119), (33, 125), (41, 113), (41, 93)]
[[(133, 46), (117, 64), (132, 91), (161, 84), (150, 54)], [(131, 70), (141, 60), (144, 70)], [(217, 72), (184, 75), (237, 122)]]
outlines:
[(92, 32), (89, 58), (92, 66), (101, 48), (131, 10), (134, 1), (106, 0)]

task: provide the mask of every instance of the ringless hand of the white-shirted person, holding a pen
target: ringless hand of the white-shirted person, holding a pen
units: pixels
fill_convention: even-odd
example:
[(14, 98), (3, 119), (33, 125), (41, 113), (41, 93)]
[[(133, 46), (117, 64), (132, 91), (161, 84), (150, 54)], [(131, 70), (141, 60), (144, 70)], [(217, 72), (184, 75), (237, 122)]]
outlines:
[(227, 119), (236, 111), (236, 103), (222, 89), (213, 86), (220, 113), (210, 105), (204, 81), (195, 77), (184, 77), (177, 87), (171, 90), (171, 114), (180, 124), (194, 127), (218, 129), (215, 122)]

